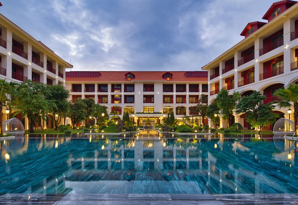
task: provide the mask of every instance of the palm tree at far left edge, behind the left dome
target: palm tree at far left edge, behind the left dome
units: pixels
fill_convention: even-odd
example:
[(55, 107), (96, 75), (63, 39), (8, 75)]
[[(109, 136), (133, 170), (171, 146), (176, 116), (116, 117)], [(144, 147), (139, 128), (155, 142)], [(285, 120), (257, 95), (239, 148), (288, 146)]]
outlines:
[(6, 106), (6, 101), (9, 98), (9, 94), (13, 92), (15, 87), (19, 85), (17, 82), (7, 82), (5, 79), (0, 79), (0, 134), (2, 135), (2, 108)]

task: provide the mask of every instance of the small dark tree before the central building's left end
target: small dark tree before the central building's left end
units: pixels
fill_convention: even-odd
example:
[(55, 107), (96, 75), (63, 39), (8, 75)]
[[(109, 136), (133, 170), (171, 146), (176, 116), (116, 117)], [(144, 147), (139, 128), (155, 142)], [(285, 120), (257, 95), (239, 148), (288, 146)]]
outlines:
[(67, 116), (71, 119), (72, 128), (75, 128), (76, 124), (86, 119), (85, 107), (86, 104), (82, 99), (76, 100), (73, 104), (70, 104)]

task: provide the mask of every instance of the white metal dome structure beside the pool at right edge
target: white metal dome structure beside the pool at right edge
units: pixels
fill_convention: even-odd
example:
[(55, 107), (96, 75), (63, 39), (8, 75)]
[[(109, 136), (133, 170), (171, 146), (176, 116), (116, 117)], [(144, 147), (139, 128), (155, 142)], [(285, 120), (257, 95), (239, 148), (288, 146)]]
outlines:
[(295, 128), (295, 124), (293, 121), (285, 119), (285, 118), (280, 118), (274, 124), (273, 134), (276, 134), (276, 135), (291, 134), (291, 135), (293, 135), (295, 132), (294, 128)]

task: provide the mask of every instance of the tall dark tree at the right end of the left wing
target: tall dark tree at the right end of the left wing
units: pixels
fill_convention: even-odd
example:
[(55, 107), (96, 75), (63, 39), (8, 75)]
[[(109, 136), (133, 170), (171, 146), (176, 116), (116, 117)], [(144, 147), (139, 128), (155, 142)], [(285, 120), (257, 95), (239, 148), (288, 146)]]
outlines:
[[(58, 125), (62, 118), (65, 118), (67, 112), (69, 111), (70, 102), (68, 98), (70, 97), (70, 91), (66, 90), (62, 85), (47, 85), (47, 93), (45, 93), (45, 98), (48, 101), (52, 101), (52, 114), (54, 116), (54, 128), (58, 130)], [(57, 115), (57, 117), (56, 117)]]

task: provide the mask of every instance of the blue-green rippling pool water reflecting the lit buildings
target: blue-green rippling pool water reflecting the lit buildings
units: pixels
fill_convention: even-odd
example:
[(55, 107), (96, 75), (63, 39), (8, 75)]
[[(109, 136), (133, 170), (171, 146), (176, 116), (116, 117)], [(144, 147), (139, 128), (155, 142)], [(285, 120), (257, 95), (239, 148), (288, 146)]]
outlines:
[(0, 193), (297, 193), (282, 138), (19, 138), (0, 141)]

